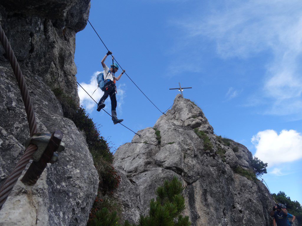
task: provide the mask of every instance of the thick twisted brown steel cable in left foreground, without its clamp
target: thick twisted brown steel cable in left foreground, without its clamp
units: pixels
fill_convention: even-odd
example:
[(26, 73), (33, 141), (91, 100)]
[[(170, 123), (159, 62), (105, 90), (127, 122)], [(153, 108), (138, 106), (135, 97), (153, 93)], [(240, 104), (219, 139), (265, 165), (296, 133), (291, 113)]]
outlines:
[[(9, 62), (14, 71), (14, 74), (16, 76), (18, 86), (20, 88), (21, 96), (22, 96), (24, 106), (25, 106), (30, 134), (32, 136), (34, 133), (37, 133), (37, 121), (36, 121), (36, 117), (35, 117), (34, 108), (31, 103), (31, 97), (29, 95), (22, 71), (20, 69), (20, 65), (18, 64), (17, 58), (14, 55), (14, 51), (12, 50), (11, 45), (8, 42), (8, 39), (5, 36), (5, 33), (4, 33), (1, 25), (0, 25), (0, 41), (5, 50), (6, 56), (9, 59)], [(34, 152), (36, 150), (37, 150), (37, 146), (35, 146), (33, 144), (28, 146), (27, 149), (25, 150), (23, 156), (21, 157), (21, 159), (19, 160), (19, 162), (13, 169), (13, 171), (6, 178), (5, 182), (2, 184), (2, 187), (0, 188), (0, 209), (2, 208), (8, 195), (11, 193), (11, 190), (13, 189), (18, 178), (21, 176), (27, 163), (31, 159), (31, 156), (34, 154)]]

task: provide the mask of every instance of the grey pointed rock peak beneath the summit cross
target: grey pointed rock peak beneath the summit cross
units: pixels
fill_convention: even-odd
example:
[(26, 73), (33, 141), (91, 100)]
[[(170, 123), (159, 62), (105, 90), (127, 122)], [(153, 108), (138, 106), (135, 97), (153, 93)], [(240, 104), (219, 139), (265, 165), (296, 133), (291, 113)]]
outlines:
[[(201, 109), (180, 95), (166, 115), (114, 154), (114, 167), (139, 193), (132, 213), (124, 205), (127, 217), (137, 220), (139, 209), (146, 214), (156, 188), (177, 176), (185, 186), (184, 214), (192, 225), (270, 225), (268, 211), (274, 202), (267, 188), (234, 172), (238, 167), (246, 172), (252, 169), (251, 152), (215, 136)], [(197, 135), (200, 131), (203, 137)], [(135, 206), (139, 206), (136, 212)]]

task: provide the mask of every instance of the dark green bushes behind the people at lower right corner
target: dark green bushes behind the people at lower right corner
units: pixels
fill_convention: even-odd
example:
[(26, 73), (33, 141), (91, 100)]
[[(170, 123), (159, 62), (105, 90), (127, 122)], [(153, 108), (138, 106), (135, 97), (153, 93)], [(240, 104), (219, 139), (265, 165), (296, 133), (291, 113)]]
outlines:
[(282, 191), (279, 191), (277, 195), (273, 193), (272, 196), (275, 202), (286, 204), (288, 213), (294, 215), (300, 223), (302, 222), (302, 207), (298, 201), (292, 201), (291, 197), (287, 197)]

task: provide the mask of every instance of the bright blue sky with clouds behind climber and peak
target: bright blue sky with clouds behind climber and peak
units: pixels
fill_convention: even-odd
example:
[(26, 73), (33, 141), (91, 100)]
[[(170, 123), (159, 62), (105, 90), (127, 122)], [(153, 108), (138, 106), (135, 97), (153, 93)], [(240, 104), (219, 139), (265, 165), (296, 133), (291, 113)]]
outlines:
[[(193, 87), (184, 97), (201, 107), (215, 133), (268, 162), (263, 178), (271, 192), (302, 203), (301, 10), (296, 0), (92, 0), (89, 21), (159, 109), (172, 105), (178, 91), (169, 88), (178, 82)], [(89, 24), (77, 33), (76, 77), (89, 93), (106, 52)], [(117, 88), (118, 118), (135, 132), (152, 127), (161, 113), (125, 74)], [(113, 151), (131, 141), (131, 131), (95, 111), (81, 89), (79, 96)]]

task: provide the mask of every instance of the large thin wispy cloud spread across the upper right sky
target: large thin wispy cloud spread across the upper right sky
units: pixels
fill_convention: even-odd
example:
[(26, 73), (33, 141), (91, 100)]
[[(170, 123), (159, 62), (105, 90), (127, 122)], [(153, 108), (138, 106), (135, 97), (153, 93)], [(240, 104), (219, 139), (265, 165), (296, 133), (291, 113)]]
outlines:
[(248, 58), (265, 51), (269, 56), (265, 79), (256, 90), (256, 98), (266, 107), (263, 113), (301, 115), (302, 1), (223, 3), (209, 4), (212, 8), (204, 13), (182, 18), (178, 25), (185, 29), (186, 38), (194, 39), (191, 43), (203, 38), (214, 42), (222, 58)]

